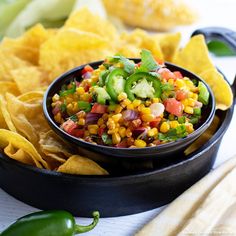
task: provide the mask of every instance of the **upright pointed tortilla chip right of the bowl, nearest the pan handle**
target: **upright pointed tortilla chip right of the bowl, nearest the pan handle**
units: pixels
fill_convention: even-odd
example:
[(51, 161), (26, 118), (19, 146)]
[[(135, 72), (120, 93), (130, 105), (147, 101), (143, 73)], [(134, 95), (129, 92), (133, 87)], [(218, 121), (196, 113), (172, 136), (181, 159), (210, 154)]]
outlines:
[(187, 45), (176, 53), (173, 62), (197, 75), (206, 70), (215, 69), (203, 35), (192, 37)]

